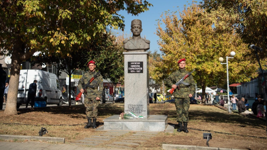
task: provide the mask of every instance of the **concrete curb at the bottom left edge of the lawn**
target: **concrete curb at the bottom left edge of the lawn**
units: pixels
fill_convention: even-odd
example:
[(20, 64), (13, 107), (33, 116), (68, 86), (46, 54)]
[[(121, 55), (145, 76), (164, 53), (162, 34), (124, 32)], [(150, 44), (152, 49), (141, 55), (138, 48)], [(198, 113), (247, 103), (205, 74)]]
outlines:
[(65, 138), (57, 137), (44, 137), (44, 136), (22, 136), (22, 135), (4, 135), (0, 134), (0, 139), (3, 140), (40, 140), (47, 142), (60, 142), (65, 143)]

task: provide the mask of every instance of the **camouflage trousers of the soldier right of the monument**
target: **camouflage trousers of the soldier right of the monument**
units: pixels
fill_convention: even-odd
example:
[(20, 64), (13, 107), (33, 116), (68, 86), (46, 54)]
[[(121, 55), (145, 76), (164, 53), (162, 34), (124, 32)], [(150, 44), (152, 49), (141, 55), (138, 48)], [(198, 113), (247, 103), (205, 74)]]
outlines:
[(177, 113), (177, 122), (188, 122), (188, 109), (190, 98), (175, 98), (175, 107)]

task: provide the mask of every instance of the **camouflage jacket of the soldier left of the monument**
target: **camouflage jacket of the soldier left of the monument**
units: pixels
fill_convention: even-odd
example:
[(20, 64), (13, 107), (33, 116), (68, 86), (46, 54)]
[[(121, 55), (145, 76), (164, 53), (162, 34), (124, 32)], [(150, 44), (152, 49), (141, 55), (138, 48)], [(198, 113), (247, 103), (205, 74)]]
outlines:
[[(85, 73), (81, 79), (78, 82), (78, 89), (81, 90), (83, 88), (83, 85), (87, 84), (91, 78), (96, 74), (97, 72), (87, 72)], [(102, 97), (102, 89), (103, 89), (103, 78), (101, 75), (97, 76), (90, 85), (94, 85), (94, 88), (87, 87), (86, 91), (87, 94), (84, 93), (85, 98), (101, 98)], [(99, 87), (99, 90), (98, 90)]]

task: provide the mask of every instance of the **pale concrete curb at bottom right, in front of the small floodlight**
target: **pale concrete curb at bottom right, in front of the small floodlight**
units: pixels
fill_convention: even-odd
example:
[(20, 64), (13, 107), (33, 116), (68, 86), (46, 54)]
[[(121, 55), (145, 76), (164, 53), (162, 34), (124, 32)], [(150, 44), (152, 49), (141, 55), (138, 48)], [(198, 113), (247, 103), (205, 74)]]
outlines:
[(162, 149), (173, 150), (173, 149), (186, 149), (186, 150), (241, 150), (231, 148), (220, 148), (220, 147), (204, 147), (204, 146), (193, 146), (193, 145), (175, 145), (175, 144), (162, 144)]

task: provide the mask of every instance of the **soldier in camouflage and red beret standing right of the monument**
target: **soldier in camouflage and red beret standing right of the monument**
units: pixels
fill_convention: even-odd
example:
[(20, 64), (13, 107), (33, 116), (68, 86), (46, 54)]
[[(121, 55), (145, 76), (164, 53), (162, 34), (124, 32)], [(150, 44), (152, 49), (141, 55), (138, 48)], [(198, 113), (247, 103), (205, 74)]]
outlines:
[[(185, 59), (180, 59), (178, 61), (179, 70), (173, 72), (167, 79), (166, 83), (173, 87), (174, 89), (177, 88), (175, 85), (181, 78), (183, 78), (189, 72), (185, 70)], [(180, 84), (180, 90), (176, 89), (173, 93), (175, 97), (175, 107), (177, 112), (177, 122), (179, 125), (178, 132), (184, 131), (188, 133), (187, 130), (187, 123), (188, 123), (188, 109), (190, 106), (190, 98), (193, 97), (195, 91), (195, 81), (193, 76), (188, 76), (185, 80), (185, 83), (189, 83), (188, 86)], [(184, 123), (184, 126), (183, 126)]]

